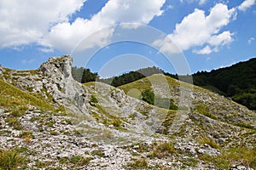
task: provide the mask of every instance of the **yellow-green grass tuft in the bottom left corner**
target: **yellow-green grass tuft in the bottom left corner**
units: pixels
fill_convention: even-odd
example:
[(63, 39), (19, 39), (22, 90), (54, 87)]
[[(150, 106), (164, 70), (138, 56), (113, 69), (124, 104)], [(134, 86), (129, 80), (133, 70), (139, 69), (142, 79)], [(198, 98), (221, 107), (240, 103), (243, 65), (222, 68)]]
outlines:
[(25, 168), (26, 159), (16, 150), (0, 150), (0, 169)]

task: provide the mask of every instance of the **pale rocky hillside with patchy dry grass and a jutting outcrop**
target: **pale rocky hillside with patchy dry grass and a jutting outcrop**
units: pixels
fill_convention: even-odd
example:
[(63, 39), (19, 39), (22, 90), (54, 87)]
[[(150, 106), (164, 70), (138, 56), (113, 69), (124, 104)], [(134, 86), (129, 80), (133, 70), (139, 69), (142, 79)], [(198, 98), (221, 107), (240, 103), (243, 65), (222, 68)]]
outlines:
[[(255, 112), (161, 75), (120, 88), (83, 85), (73, 80), (71, 66), (72, 57), (63, 56), (35, 71), (0, 68), (0, 150), (18, 152), (26, 159), (21, 167), (256, 167)], [(126, 95), (145, 88), (174, 99), (180, 110)]]

